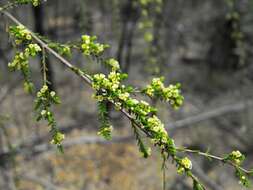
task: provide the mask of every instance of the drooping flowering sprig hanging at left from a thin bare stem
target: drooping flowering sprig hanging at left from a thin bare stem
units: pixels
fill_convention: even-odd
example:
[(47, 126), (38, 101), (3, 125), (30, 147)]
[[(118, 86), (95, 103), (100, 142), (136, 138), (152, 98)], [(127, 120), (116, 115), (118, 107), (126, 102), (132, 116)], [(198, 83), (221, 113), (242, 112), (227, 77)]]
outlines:
[(35, 110), (38, 112), (37, 121), (45, 119), (48, 122), (48, 125), (51, 127), (50, 131), (52, 132), (51, 143), (57, 145), (61, 150), (64, 134), (56, 127), (54, 114), (50, 110), (52, 104), (60, 104), (60, 98), (56, 95), (55, 91), (50, 91), (47, 85), (43, 85), (37, 93), (37, 99), (35, 101)]

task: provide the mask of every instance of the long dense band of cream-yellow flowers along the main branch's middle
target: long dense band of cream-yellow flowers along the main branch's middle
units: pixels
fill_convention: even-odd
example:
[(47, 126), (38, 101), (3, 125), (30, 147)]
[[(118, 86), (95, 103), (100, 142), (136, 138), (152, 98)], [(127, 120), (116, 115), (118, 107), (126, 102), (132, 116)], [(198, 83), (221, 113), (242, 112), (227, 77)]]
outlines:
[[(115, 71), (111, 71), (108, 77), (104, 74), (95, 74), (92, 84), (96, 90), (94, 97), (99, 102), (109, 101), (113, 103), (116, 109), (127, 110), (135, 116), (136, 122), (143, 126), (143, 130), (150, 135), (154, 145), (166, 149), (170, 155), (174, 155), (176, 152), (174, 141), (169, 138), (164, 124), (155, 115), (157, 110), (145, 101), (132, 98), (130, 96), (132, 88), (121, 84), (125, 78), (123, 76), (125, 75)], [(110, 125), (107, 126), (106, 132), (110, 129)]]

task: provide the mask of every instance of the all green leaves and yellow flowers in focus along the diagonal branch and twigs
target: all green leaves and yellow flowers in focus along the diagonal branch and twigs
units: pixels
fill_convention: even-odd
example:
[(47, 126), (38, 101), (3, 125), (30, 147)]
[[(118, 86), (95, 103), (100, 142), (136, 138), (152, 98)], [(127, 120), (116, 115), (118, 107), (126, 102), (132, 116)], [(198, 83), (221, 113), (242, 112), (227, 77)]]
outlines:
[[(16, 30), (18, 28), (18, 30)], [(30, 35), (28, 30), (23, 27), (13, 27), (12, 36), (16, 37), (16, 40), (23, 42), (26, 45), (25, 51), (18, 56), (14, 64), (10, 64), (11, 68), (19, 69), (20, 65), (25, 65), (27, 67), (27, 56), (35, 56), (41, 51), (41, 48), (37, 44), (33, 44), (32, 40), (26, 39)], [(82, 53), (86, 56), (95, 56), (99, 59), (103, 53), (105, 46), (94, 42), (95, 38), (90, 38), (85, 35), (83, 38), (83, 44), (80, 49)], [(28, 43), (29, 42), (29, 43)], [(85, 44), (85, 46), (84, 46)], [(56, 45), (59, 47), (59, 45)], [(87, 50), (87, 51), (86, 51)], [(43, 51), (45, 56), (45, 52)], [(24, 64), (24, 63), (25, 64)], [(131, 121), (134, 134), (139, 146), (139, 150), (142, 155), (146, 158), (150, 155), (151, 149), (146, 147), (142, 141), (140, 132), (143, 132), (153, 143), (157, 146), (164, 159), (167, 160), (171, 158), (176, 162), (177, 171), (179, 174), (186, 174), (191, 177), (194, 182), (194, 189), (204, 189), (201, 183), (198, 182), (197, 178), (192, 174), (192, 163), (187, 157), (180, 158), (177, 156), (178, 149), (175, 146), (174, 140), (169, 137), (167, 131), (165, 130), (164, 124), (157, 116), (156, 108), (150, 106), (148, 102), (143, 100), (137, 100), (132, 98), (136, 91), (133, 86), (125, 86), (122, 82), (128, 77), (126, 73), (120, 71), (119, 63), (117, 60), (110, 58), (105, 59), (103, 63), (111, 69), (108, 75), (103, 73), (94, 74), (92, 76), (84, 74), (80, 69), (76, 67), (71, 67), (71, 69), (80, 76), (87, 76), (87, 80), (91, 80), (90, 85), (95, 90), (93, 97), (98, 101), (99, 108), (99, 120), (101, 122), (99, 135), (106, 139), (111, 139), (112, 126), (108, 117), (107, 103), (114, 105), (116, 110), (124, 113)], [(46, 68), (43, 64), (43, 70)], [(50, 91), (46, 85), (47, 81), (44, 77), (44, 86), (37, 93), (37, 99), (35, 101), (35, 110), (37, 111), (37, 120), (46, 120), (50, 126), (50, 131), (52, 133), (51, 143), (55, 144), (60, 151), (63, 151), (62, 141), (64, 140), (64, 134), (62, 134), (57, 126), (54, 118), (54, 114), (51, 111), (51, 106), (53, 104), (59, 104), (59, 97), (54, 91)], [(180, 85), (169, 85), (165, 87), (164, 78), (154, 78), (150, 85), (147, 85), (142, 94), (148, 95), (150, 98), (160, 99), (167, 101), (172, 107), (178, 108), (183, 103), (183, 96), (180, 92)], [(211, 157), (209, 154), (202, 154), (207, 158)], [(238, 151), (234, 151), (223, 159), (224, 162), (232, 162), (233, 166), (236, 168), (236, 175), (239, 177), (240, 182), (248, 186), (248, 178), (246, 177), (245, 171), (241, 169), (240, 164), (244, 160), (244, 156)]]

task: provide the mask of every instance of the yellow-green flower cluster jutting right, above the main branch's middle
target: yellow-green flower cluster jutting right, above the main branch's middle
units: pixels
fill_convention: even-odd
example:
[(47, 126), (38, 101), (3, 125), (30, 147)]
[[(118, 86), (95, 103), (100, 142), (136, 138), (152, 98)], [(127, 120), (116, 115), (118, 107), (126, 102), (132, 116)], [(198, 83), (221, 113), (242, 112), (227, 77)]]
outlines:
[(159, 98), (169, 102), (173, 108), (183, 104), (184, 97), (180, 92), (180, 84), (164, 86), (164, 78), (154, 78), (150, 85), (147, 85), (143, 92), (151, 98)]

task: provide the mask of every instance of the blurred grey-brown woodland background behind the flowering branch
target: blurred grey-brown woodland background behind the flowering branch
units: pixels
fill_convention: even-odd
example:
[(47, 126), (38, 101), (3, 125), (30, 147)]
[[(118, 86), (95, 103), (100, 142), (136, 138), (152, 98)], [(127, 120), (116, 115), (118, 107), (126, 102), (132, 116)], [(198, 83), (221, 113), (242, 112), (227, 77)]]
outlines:
[[(164, 76), (182, 84), (184, 105), (177, 111), (152, 102), (176, 145), (224, 155), (241, 150), (253, 165), (253, 1), (164, 0), (142, 6), (135, 0), (48, 0), (39, 7), (10, 12), (34, 32), (61, 42), (82, 34), (110, 44), (106, 54), (120, 61), (127, 83), (148, 84)], [(0, 1), (4, 5), (5, 0)], [(111, 113), (113, 140), (97, 136), (99, 122), (92, 90), (54, 57), (47, 64), (52, 88), (62, 100), (54, 107), (65, 133), (62, 155), (49, 143), (46, 123), (35, 121), (34, 96), (22, 77), (10, 73), (14, 51), (0, 16), (0, 189), (1, 190), (154, 190), (162, 189), (162, 159), (140, 156), (129, 122)], [(74, 65), (101, 72), (78, 53)], [(39, 59), (31, 61), (32, 80), (41, 87)], [(211, 190), (242, 187), (230, 167), (194, 157), (193, 171)], [(192, 189), (168, 163), (167, 190)], [(251, 187), (252, 189), (252, 187)]]

